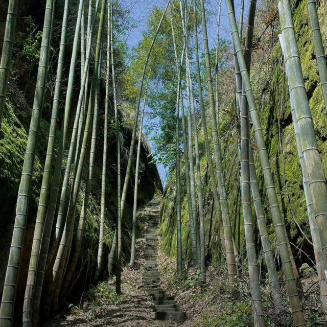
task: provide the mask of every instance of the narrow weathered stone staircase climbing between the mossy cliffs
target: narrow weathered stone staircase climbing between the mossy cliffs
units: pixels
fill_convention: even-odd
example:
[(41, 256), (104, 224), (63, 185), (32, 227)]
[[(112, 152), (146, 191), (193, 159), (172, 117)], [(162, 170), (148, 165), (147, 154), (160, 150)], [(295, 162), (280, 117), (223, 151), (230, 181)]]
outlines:
[(159, 204), (160, 200), (152, 200), (148, 204), (151, 213), (148, 216), (148, 226), (146, 229), (146, 274), (143, 279), (143, 285), (144, 290), (153, 298), (155, 319), (182, 322), (186, 317), (186, 313), (180, 311), (174, 296), (167, 295), (165, 291), (160, 288), (160, 277), (157, 264), (158, 237), (156, 235), (159, 222)]

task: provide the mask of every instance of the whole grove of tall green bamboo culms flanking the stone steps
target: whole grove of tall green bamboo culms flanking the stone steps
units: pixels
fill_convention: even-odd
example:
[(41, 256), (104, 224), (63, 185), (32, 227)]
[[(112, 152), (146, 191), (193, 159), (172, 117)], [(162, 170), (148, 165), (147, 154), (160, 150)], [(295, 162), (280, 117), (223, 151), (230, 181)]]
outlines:
[[(318, 4), (316, 0), (306, 1), (312, 32), (315, 59), (319, 72), (321, 97), (327, 105), (327, 65), (323, 39), (319, 28)], [(133, 115), (130, 144), (125, 148), (122, 137), (122, 91), (119, 83), (120, 71), (116, 67), (116, 48), (120, 27), (117, 26), (119, 4), (112, 0), (46, 0), (43, 31), (40, 44), (37, 77), (34, 89), (33, 109), (30, 117), (24, 164), (20, 174), (17, 201), (14, 209), (12, 236), (8, 256), (1, 262), (0, 325), (12, 326), (15, 310), (22, 309), (24, 327), (38, 325), (40, 315), (49, 318), (60, 310), (60, 303), (71, 292), (80, 272), (80, 258), (83, 240), (87, 233), (86, 221), (90, 209), (90, 196), (94, 186), (96, 161), (101, 158), (101, 203), (99, 235), (97, 235), (97, 261), (93, 282), (103, 278), (107, 270), (109, 277), (115, 275), (115, 291), (122, 293), (121, 274), (126, 264), (135, 262), (137, 237), (137, 208), (139, 180), (142, 179), (141, 147), (147, 109), (154, 102), (151, 92), (166, 77), (158, 82), (162, 69), (158, 62), (167, 65), (166, 84), (172, 89), (172, 100), (165, 119), (171, 123), (173, 139), (171, 157), (173, 164), (170, 179), (174, 188), (174, 239), (176, 249), (176, 272), (178, 281), (185, 275), (182, 226), (183, 207), (190, 227), (190, 249), (192, 265), (199, 271), (201, 285), (206, 285), (206, 271), (209, 265), (207, 253), (208, 235), (205, 228), (205, 190), (201, 162), (201, 148), (207, 167), (207, 184), (211, 194), (214, 238), (218, 243), (220, 265), (226, 268), (228, 291), (232, 301), (240, 299), (240, 269), (248, 275), (253, 325), (265, 326), (265, 294), (262, 283), (261, 260), (263, 252), (264, 270), (267, 272), (269, 297), (275, 314), (279, 318), (290, 311), (294, 326), (306, 326), (302, 308), (305, 294), (294, 258), (294, 247), (289, 239), (284, 211), (275, 187), (273, 159), (269, 155), (269, 144), (261, 122), (261, 108), (253, 91), (250, 78), (256, 12), (256, 0), (234, 2), (220, 0), (214, 8), (217, 14), (215, 49), (211, 49), (208, 30), (208, 8), (204, 0), (168, 0), (148, 33), (147, 42), (141, 54), (136, 54), (136, 87), (133, 91)], [(283, 57), (281, 65), (285, 70), (291, 107), (291, 120), (302, 174), (302, 192), (307, 206), (306, 220), (310, 227), (314, 251), (314, 267), (318, 275), (320, 300), (327, 316), (327, 185), (316, 140), (316, 131), (309, 105), (305, 79), (302, 74), (300, 51), (294, 29), (293, 8), (289, 0), (275, 1), (277, 6), (274, 19), (278, 22), (278, 40)], [(6, 98), (12, 65), (18, 0), (9, 0), (2, 57), (0, 63), (0, 129), (6, 116)], [(47, 92), (48, 72), (53, 60), (52, 38), (55, 13), (62, 11), (60, 46), (56, 62), (56, 78), (51, 96), (51, 119), (47, 130), (47, 146), (42, 167), (37, 213), (31, 254), (28, 261), (27, 283), (22, 308), (16, 304), (22, 251), (25, 244), (28, 211), (31, 199), (33, 174), (40, 142), (40, 122)], [(222, 9), (228, 18), (232, 55), (228, 64), (232, 66), (231, 104), (235, 121), (237, 150), (235, 162), (238, 166), (238, 187), (240, 192), (240, 215), (244, 225), (246, 264), (235, 241), (232, 223), (232, 207), (228, 188), (225, 149), (222, 143), (222, 119), (225, 103), (221, 100), (221, 89), (226, 81), (220, 67)], [(237, 19), (237, 10), (240, 17)], [(72, 15), (72, 12), (75, 14)], [(245, 13), (247, 12), (247, 16)], [(69, 32), (69, 19), (74, 17), (74, 31)], [(73, 34), (72, 34), (73, 33)], [(71, 35), (72, 34), (72, 35)], [(72, 44), (66, 46), (68, 38)], [(159, 40), (158, 40), (159, 38)], [(160, 42), (169, 42), (169, 58), (160, 57)], [(164, 48), (164, 45), (162, 45)], [(141, 58), (141, 59), (140, 59)], [(67, 65), (67, 62), (69, 64)], [(66, 67), (67, 65), (68, 67)], [(161, 70), (160, 70), (161, 69)], [(65, 71), (67, 78), (65, 79)], [(77, 72), (80, 72), (80, 78)], [(164, 75), (164, 74), (162, 74)], [(74, 92), (78, 89), (78, 97)], [(153, 97), (153, 96), (152, 96)], [(62, 100), (64, 99), (64, 100)], [(101, 102), (104, 99), (104, 110)], [(111, 126), (110, 120), (113, 120)], [(103, 126), (99, 126), (103, 122)], [(115, 157), (109, 157), (109, 133), (114, 128)], [(103, 131), (101, 153), (99, 153), (99, 131)], [(58, 136), (59, 135), (59, 136)], [(1, 136), (2, 137), (2, 136)], [(202, 143), (203, 142), (203, 146)], [(137, 146), (136, 146), (137, 144)], [(168, 145), (165, 145), (168, 148)], [(168, 150), (167, 150), (168, 152)], [(123, 169), (125, 156), (126, 169)], [(105, 248), (105, 222), (108, 199), (108, 167), (115, 172), (114, 231), (110, 248)], [(123, 174), (123, 171), (125, 174)], [(259, 175), (262, 176), (260, 181)], [(183, 177), (185, 177), (183, 179)], [(133, 181), (133, 182), (131, 182)], [(128, 193), (133, 194), (132, 214), (126, 207)], [(165, 196), (165, 194), (164, 194)], [(183, 198), (185, 203), (183, 205)], [(267, 216), (271, 217), (268, 225)], [(130, 223), (130, 251), (124, 253), (124, 224)], [(211, 236), (210, 236), (211, 237)], [(257, 239), (260, 239), (257, 242)], [(258, 248), (260, 244), (261, 248)], [(104, 258), (107, 255), (108, 258)], [(6, 256), (6, 255), (5, 255)], [(108, 267), (105, 263), (108, 262)], [(82, 269), (82, 268), (81, 268)], [(88, 269), (88, 268), (87, 268)], [(86, 283), (86, 282), (85, 282)], [(86, 285), (86, 284), (85, 284)], [(267, 288), (265, 288), (265, 291)], [(286, 294), (285, 294), (286, 293)]]

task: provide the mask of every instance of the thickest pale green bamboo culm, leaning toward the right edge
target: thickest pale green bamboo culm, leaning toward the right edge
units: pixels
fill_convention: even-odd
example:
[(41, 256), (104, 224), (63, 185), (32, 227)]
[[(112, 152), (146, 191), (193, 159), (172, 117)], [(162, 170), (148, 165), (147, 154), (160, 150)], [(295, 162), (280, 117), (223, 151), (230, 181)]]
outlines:
[(278, 1), (279, 19), (284, 40), (285, 62), (289, 65), (288, 81), (291, 97), (294, 101), (294, 116), (298, 127), (299, 144), (308, 172), (312, 195), (313, 211), (317, 221), (321, 242), (321, 264), (327, 270), (327, 185), (322, 162), (317, 147), (315, 130), (305, 84), (301, 62), (293, 27), (289, 1)]

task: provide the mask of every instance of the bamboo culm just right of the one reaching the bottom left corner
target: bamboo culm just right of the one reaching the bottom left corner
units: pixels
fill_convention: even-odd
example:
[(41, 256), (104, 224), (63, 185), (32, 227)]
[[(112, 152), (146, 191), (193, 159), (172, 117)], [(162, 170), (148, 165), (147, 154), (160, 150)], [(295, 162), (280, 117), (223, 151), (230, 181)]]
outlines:
[(39, 261), (39, 252), (40, 252), (40, 247), (41, 247), (41, 239), (42, 239), (43, 226), (44, 226), (44, 220), (45, 220), (45, 214), (46, 214), (46, 204), (48, 201), (50, 179), (51, 179), (51, 173), (52, 173), (52, 164), (53, 164), (53, 158), (54, 158), (54, 146), (55, 146), (55, 138), (56, 138), (56, 131), (57, 131), (59, 100), (60, 100), (60, 94), (61, 94), (62, 75), (63, 75), (64, 58), (65, 58), (69, 2), (70, 2), (70, 0), (65, 1), (64, 10), (63, 10), (60, 50), (59, 50), (59, 57), (58, 57), (57, 77), (56, 77), (54, 100), (53, 100), (53, 106), (52, 106), (48, 148), (46, 150), (44, 171), (43, 171), (43, 177), (42, 177), (38, 211), (37, 211), (37, 215), (36, 215), (36, 223), (35, 223), (35, 229), (34, 229), (31, 259), (30, 259), (29, 272), (28, 272), (28, 277), (27, 277), (27, 285), (26, 285), (26, 291), (25, 291), (25, 299), (24, 299), (24, 308), (23, 308), (23, 326), (24, 327), (28, 327), (32, 323), (33, 294), (34, 294), (34, 287), (35, 287), (35, 282), (36, 282), (36, 275), (37, 275), (37, 268), (38, 268), (38, 261)]

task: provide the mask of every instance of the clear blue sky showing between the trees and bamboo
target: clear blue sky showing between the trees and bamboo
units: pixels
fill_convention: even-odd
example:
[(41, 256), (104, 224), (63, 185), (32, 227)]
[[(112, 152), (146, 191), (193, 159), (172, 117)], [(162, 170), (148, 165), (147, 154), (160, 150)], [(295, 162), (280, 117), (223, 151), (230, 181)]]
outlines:
[[(146, 22), (154, 6), (159, 8), (165, 8), (167, 2), (166, 0), (121, 0), (121, 7), (123, 9), (128, 9), (129, 20), (133, 23), (132, 28), (127, 32), (126, 41), (127, 44), (132, 48), (135, 46), (142, 37), (142, 32), (146, 29)], [(245, 7), (247, 8), (247, 4)], [(239, 16), (240, 1), (236, 1), (236, 15)], [(215, 48), (216, 46), (216, 32), (217, 32), (217, 19), (218, 19), (218, 8), (219, 0), (207, 0), (205, 1), (205, 8), (207, 11), (207, 32), (209, 47)], [(245, 9), (246, 12), (246, 9)], [(227, 11), (224, 6), (224, 0), (222, 1), (221, 10), (221, 27), (220, 27), (220, 37), (230, 39), (230, 30)], [(199, 29), (199, 40), (202, 39), (201, 29)], [(147, 108), (149, 110), (149, 108)], [(147, 115), (144, 119), (144, 124), (147, 124)], [(153, 149), (154, 145), (150, 146)], [(162, 165), (158, 165), (159, 174), (162, 182), (166, 183), (166, 173)]]

